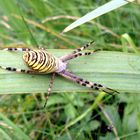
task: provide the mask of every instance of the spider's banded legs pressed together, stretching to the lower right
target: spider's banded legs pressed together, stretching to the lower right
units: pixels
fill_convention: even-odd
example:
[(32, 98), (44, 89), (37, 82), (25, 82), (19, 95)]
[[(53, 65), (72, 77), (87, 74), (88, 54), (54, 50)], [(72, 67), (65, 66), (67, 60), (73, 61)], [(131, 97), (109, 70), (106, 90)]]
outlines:
[(109, 94), (113, 94), (113, 93), (119, 93), (118, 91), (116, 90), (113, 90), (111, 88), (107, 88), (101, 84), (98, 84), (98, 83), (93, 83), (93, 82), (89, 82), (87, 80), (84, 80), (68, 71), (62, 71), (60, 73), (58, 73), (59, 75), (73, 81), (73, 82), (76, 82), (78, 83), (79, 85), (82, 85), (82, 86), (86, 86), (86, 87), (89, 87), (89, 88), (92, 88), (92, 89), (95, 89), (95, 90), (99, 90), (99, 91), (104, 91), (106, 93), (109, 93)]

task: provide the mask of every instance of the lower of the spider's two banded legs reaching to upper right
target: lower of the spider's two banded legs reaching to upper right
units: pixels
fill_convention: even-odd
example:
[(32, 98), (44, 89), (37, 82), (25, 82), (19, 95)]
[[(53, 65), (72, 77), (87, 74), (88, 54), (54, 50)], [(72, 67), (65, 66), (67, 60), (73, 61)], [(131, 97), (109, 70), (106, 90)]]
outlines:
[(66, 61), (68, 61), (68, 60), (70, 60), (70, 59), (74, 59), (74, 58), (77, 58), (77, 57), (79, 57), (79, 56), (85, 56), (85, 55), (91, 55), (91, 54), (93, 54), (93, 53), (95, 53), (95, 52), (97, 52), (97, 51), (99, 51), (99, 49), (98, 50), (94, 50), (94, 51), (92, 51), (92, 52), (84, 52), (84, 53), (75, 53), (75, 54), (71, 54), (71, 55), (69, 55), (69, 57), (67, 57), (67, 58), (64, 58), (62, 61), (63, 62), (66, 62)]

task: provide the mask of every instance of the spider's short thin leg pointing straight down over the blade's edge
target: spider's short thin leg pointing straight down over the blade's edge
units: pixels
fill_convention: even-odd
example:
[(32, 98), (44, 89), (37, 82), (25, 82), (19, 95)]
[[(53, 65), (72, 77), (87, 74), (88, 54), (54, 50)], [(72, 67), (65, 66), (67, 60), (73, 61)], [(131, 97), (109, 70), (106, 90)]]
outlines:
[(44, 104), (44, 108), (46, 107), (48, 98), (49, 98), (49, 96), (51, 94), (51, 90), (52, 90), (52, 86), (53, 86), (53, 83), (54, 83), (54, 79), (55, 79), (55, 73), (52, 74), (52, 77), (50, 79), (50, 84), (49, 84), (48, 93), (47, 93), (47, 97), (46, 97), (46, 102)]

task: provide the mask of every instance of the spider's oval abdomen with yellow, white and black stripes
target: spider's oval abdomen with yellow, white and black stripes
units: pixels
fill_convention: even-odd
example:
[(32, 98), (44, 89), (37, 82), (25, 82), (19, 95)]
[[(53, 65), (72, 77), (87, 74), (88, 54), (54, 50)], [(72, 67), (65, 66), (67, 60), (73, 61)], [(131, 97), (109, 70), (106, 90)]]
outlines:
[(32, 70), (38, 73), (56, 72), (59, 68), (59, 61), (45, 50), (32, 50), (25, 52), (23, 60)]

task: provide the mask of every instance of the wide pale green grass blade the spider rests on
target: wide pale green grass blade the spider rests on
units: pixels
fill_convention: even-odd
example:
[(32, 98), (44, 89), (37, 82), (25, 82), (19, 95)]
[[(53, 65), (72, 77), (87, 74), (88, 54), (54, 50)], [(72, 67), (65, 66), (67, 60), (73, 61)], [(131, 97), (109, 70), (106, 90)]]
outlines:
[[(71, 50), (49, 52), (62, 56)], [(0, 65), (27, 68), (22, 53), (0, 51)], [(89, 81), (101, 83), (120, 92), (140, 92), (140, 56), (131, 53), (101, 51), (92, 56), (71, 60), (68, 69)], [(0, 70), (0, 94), (46, 92), (50, 75), (29, 75)], [(56, 76), (54, 92), (92, 91), (65, 78)]]

